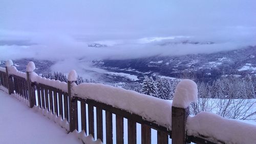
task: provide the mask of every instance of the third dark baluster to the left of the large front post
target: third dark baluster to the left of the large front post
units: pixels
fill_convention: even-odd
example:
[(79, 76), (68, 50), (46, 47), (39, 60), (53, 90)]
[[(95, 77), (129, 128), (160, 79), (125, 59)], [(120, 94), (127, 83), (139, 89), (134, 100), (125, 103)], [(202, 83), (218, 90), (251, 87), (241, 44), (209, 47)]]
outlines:
[(136, 122), (128, 119), (127, 125), (128, 125), (128, 143), (136, 144), (137, 142)]

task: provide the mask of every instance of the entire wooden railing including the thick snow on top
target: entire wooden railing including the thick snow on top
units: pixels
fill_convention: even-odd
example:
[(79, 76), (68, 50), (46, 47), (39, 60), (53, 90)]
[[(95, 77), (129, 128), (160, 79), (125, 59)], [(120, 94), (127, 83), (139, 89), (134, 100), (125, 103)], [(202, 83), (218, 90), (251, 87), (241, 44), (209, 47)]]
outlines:
[[(157, 143), (168, 143), (168, 137), (172, 138), (172, 143), (256, 141), (254, 125), (207, 112), (189, 116), (190, 102), (197, 101), (197, 85), (192, 80), (185, 79), (177, 85), (171, 102), (104, 84), (76, 85), (74, 70), (66, 83), (38, 76), (33, 72), (33, 62), (28, 64), (26, 73), (12, 65), (12, 61), (7, 61), (6, 68), (0, 68), (0, 85), (7, 88), (9, 94), (16, 93), (29, 100), (30, 107), (36, 105), (51, 111), (68, 123), (67, 130), (80, 129), (106, 143), (124, 143), (124, 118), (127, 119), (128, 143), (137, 142), (137, 124), (141, 124), (142, 143), (151, 143), (152, 129), (157, 130)], [(116, 136), (113, 136), (114, 127)]]

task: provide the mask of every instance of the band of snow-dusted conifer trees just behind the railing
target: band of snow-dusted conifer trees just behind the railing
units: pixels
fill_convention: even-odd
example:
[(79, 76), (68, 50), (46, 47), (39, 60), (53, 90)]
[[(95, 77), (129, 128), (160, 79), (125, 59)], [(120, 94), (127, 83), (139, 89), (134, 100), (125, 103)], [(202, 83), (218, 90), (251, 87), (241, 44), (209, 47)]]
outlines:
[[(65, 82), (68, 81), (67, 76), (61, 72), (42, 74), (42, 77)], [(85, 79), (78, 75), (76, 84), (83, 82), (97, 83), (95, 80)], [(178, 83), (179, 79), (156, 77), (154, 80), (152, 77), (145, 76), (142, 83), (126, 83), (122, 88), (161, 99), (173, 99), (175, 88)], [(256, 98), (255, 75), (246, 75), (245, 77), (223, 76), (213, 82), (197, 82), (197, 85), (199, 98)]]

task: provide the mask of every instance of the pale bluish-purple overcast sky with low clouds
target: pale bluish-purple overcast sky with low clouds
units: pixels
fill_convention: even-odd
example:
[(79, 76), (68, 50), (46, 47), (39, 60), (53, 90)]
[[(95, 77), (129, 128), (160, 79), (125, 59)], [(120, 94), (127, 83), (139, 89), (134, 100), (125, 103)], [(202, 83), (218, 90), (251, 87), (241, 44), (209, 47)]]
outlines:
[[(0, 60), (130, 59), (256, 45), (255, 6), (255, 0), (1, 0)], [(160, 46), (184, 40), (215, 44)]]

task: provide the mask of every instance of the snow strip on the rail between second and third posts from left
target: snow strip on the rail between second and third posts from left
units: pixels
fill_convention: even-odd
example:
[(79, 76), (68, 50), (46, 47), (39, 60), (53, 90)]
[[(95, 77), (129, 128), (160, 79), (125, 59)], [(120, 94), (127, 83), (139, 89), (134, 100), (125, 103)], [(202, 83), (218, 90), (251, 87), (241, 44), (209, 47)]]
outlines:
[(51, 87), (60, 89), (63, 92), (68, 92), (67, 82), (41, 77), (41, 76), (38, 76), (35, 72), (30, 73), (30, 78), (31, 78), (32, 82), (37, 82), (37, 83), (49, 85)]

